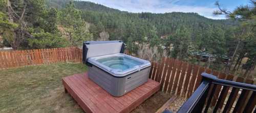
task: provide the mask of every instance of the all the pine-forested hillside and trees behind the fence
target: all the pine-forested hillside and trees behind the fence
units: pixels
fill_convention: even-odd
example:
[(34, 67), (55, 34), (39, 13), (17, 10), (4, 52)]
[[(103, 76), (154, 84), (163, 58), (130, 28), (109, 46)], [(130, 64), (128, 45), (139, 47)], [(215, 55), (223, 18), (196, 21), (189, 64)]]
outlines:
[[(71, 0), (3, 0), (0, 47), (41, 49), (81, 46), (86, 40), (123, 40), (131, 54), (144, 59), (169, 56), (201, 64), (206, 57), (204, 66), (236, 72), (242, 59), (248, 58), (246, 64), (252, 69), (255, 29), (232, 17), (215, 20), (197, 13), (130, 13)], [(236, 66), (231, 68), (229, 62)]]

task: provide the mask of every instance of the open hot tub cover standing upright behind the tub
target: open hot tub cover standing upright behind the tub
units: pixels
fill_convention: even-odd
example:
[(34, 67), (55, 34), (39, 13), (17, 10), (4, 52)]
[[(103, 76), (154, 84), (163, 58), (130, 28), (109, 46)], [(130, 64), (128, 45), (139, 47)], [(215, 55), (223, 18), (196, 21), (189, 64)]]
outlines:
[(87, 64), (87, 60), (90, 57), (123, 53), (124, 47), (125, 44), (120, 40), (84, 41), (82, 62)]

